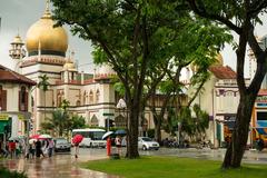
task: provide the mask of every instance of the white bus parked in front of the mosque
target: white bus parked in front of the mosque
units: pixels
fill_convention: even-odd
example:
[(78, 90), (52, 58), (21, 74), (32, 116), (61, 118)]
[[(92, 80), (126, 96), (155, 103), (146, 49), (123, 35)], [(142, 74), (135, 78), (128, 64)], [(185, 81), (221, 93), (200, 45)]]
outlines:
[(103, 129), (91, 129), (91, 128), (86, 128), (86, 129), (73, 129), (72, 130), (72, 138), (76, 135), (81, 135), (83, 136), (82, 141), (80, 142), (80, 147), (88, 147), (88, 148), (105, 148), (107, 145), (106, 140), (102, 140), (102, 136), (106, 132)]

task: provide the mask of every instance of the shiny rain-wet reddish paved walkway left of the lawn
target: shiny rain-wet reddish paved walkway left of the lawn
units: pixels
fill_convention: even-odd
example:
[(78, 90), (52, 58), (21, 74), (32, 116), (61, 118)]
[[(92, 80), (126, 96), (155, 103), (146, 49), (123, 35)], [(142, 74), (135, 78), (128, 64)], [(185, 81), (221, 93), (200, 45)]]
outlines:
[(118, 178), (99, 171), (81, 169), (79, 162), (107, 158), (103, 154), (81, 152), (78, 159), (73, 155), (56, 155), (52, 158), (4, 159), (0, 166), (10, 170), (24, 171), (29, 178)]

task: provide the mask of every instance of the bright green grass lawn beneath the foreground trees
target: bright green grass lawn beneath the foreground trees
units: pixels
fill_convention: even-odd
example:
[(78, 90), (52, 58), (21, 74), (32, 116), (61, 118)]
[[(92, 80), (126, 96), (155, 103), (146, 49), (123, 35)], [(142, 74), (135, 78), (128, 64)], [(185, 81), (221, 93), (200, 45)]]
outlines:
[(81, 166), (126, 178), (266, 178), (267, 165), (244, 165), (236, 170), (221, 170), (220, 161), (176, 157), (93, 160)]

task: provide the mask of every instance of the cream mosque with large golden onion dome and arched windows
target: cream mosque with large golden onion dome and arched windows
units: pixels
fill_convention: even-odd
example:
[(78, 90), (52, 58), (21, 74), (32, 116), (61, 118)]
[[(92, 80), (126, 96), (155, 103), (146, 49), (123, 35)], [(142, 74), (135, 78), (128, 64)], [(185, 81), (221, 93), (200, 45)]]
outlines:
[[(36, 83), (46, 75), (50, 83), (47, 91), (38, 87), (32, 89), (32, 134), (41, 130), (40, 123), (52, 117), (52, 111), (63, 99), (70, 102), (70, 112), (85, 117), (89, 126), (107, 127), (115, 121), (116, 126), (125, 127), (126, 117), (116, 108), (120, 98), (111, 85), (115, 71), (109, 66), (101, 66), (95, 73), (79, 72), (73, 52), (67, 55), (68, 34), (62, 27), (53, 28), (55, 23), (47, 4), (42, 17), (27, 32), (27, 52), (23, 51), (27, 56), (11, 56), (18, 61), (19, 73)], [(11, 46), (22, 48), (23, 42), (17, 36)]]

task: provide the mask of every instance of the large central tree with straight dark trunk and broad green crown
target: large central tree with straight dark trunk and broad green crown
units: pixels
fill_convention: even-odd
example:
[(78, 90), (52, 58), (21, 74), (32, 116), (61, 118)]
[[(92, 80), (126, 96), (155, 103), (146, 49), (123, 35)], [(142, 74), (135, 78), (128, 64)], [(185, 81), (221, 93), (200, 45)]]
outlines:
[[(160, 49), (161, 33), (169, 7), (149, 1), (52, 0), (58, 24), (71, 24), (73, 33), (91, 40), (95, 61), (108, 62), (123, 83), (129, 110), (127, 157), (137, 158), (138, 125), (147, 69), (157, 62), (154, 51)], [(172, 10), (174, 12), (174, 10)]]

